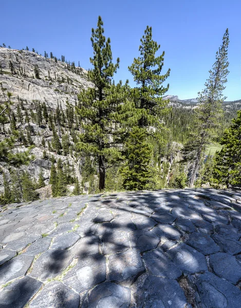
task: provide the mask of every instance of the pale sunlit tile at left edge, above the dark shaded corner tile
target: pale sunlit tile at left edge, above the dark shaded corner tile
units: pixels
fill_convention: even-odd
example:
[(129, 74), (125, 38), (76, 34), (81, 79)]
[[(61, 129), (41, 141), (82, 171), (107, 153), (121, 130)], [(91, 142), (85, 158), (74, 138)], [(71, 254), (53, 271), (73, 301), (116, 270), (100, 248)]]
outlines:
[(24, 276), (33, 261), (32, 256), (20, 255), (0, 267), (0, 285)]

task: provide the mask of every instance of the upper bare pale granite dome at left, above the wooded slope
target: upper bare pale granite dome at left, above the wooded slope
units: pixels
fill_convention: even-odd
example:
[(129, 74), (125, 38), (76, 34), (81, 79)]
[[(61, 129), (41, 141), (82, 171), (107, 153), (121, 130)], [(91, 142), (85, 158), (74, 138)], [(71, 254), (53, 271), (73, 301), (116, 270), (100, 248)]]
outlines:
[[(11, 73), (10, 62), (13, 65)], [(67, 64), (26, 50), (0, 48), (0, 65), (2, 73), (0, 82), (6, 91), (12, 92), (12, 100), (18, 98), (46, 102), (49, 108), (63, 108), (66, 101), (75, 104), (81, 89), (91, 86), (86, 80), (87, 71), (83, 68), (67, 68)], [(38, 65), (40, 79), (35, 78), (34, 68)], [(0, 100), (4, 101), (4, 92), (0, 91)]]

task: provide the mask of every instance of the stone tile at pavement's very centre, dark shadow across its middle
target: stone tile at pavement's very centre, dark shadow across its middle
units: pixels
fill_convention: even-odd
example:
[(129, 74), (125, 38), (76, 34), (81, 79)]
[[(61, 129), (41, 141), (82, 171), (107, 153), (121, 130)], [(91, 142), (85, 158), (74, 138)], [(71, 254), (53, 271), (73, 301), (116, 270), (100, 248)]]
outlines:
[(104, 234), (101, 247), (104, 255), (126, 251), (130, 248), (127, 233), (109, 232)]

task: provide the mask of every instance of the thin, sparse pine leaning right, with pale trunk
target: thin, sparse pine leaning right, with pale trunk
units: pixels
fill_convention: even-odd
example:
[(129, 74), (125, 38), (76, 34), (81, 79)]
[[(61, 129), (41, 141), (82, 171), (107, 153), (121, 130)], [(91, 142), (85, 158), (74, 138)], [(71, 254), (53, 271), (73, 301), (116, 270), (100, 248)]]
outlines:
[(223, 90), (227, 82), (229, 32), (226, 30), (223, 44), (216, 53), (216, 61), (209, 71), (210, 76), (205, 83), (206, 88), (198, 93), (199, 106), (195, 108), (195, 120), (189, 142), (186, 145), (187, 157), (191, 160), (190, 188), (193, 187), (196, 174), (200, 168), (207, 145), (216, 137), (215, 129), (219, 125), (222, 114), (221, 105), (224, 102)]

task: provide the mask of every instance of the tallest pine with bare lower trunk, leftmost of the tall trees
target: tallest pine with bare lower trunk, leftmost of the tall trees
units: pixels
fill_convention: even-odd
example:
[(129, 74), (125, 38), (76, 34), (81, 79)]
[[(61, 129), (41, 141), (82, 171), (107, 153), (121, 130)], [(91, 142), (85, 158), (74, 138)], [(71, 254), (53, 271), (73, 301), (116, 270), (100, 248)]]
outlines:
[(105, 188), (106, 159), (111, 155), (118, 156), (117, 150), (110, 145), (110, 118), (115, 111), (115, 104), (108, 99), (108, 89), (112, 85), (113, 75), (119, 67), (112, 62), (110, 39), (103, 35), (104, 28), (101, 16), (97, 29), (92, 29), (91, 43), (94, 56), (90, 63), (94, 66), (88, 72), (95, 88), (84, 90), (79, 95), (78, 114), (83, 120), (84, 133), (81, 134), (79, 147), (97, 157), (99, 165), (99, 189)]

